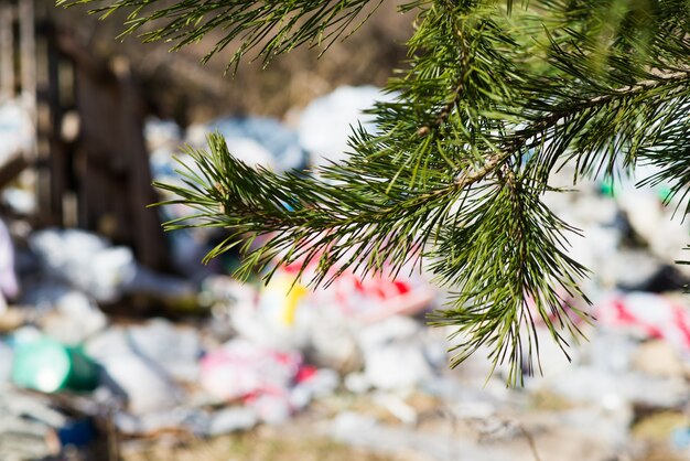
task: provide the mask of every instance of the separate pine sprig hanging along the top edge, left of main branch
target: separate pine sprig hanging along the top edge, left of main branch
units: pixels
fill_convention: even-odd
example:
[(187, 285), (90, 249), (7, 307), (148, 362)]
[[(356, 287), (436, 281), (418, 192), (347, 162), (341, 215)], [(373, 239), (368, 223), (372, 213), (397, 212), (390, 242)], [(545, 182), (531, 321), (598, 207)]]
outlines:
[[(57, 6), (66, 7), (85, 3), (98, 4), (90, 12), (103, 18), (126, 12), (121, 36), (141, 32), (144, 42), (173, 42), (174, 51), (198, 43), (212, 31), (223, 31), (203, 62), (239, 41), (228, 62), (228, 68), (236, 68), (255, 49), (265, 64), (301, 45), (323, 45), (325, 51), (357, 30), (382, 0), (57, 0)], [(154, 29), (147, 30), (149, 25)]]

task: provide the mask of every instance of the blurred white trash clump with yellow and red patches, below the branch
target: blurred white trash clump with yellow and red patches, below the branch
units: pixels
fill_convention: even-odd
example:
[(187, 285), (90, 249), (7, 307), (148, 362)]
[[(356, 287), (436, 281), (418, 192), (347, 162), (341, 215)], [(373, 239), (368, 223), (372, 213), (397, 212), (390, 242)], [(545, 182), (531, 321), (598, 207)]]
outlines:
[(228, 296), (239, 300), (229, 309), (235, 330), (259, 344), (299, 349), (316, 365), (348, 373), (362, 365), (358, 336), (364, 325), (418, 313), (438, 294), (421, 277), (362, 278), (352, 270), (328, 287), (311, 289), (302, 280), (314, 277), (315, 266), (310, 262), (298, 281), (299, 262), (281, 266), (258, 294), (228, 288), (235, 292)]

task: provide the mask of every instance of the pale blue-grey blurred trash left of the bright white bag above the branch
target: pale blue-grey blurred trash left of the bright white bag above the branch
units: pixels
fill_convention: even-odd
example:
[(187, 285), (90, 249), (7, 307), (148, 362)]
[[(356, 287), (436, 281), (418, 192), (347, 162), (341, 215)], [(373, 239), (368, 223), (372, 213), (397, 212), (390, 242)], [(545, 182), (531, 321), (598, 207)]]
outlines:
[(186, 142), (193, 147), (205, 147), (206, 136), (216, 131), (225, 138), (233, 157), (251, 167), (261, 165), (281, 173), (306, 165), (306, 156), (297, 133), (277, 119), (218, 118), (206, 125), (190, 127)]

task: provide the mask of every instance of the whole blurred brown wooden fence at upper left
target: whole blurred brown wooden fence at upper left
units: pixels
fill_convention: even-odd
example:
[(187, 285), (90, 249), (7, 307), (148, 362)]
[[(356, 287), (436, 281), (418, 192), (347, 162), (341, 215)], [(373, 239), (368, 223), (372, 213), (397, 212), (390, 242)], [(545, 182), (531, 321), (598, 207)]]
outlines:
[(0, 101), (21, 100), (36, 128), (35, 151), (0, 167), (0, 186), (31, 165), (36, 225), (95, 230), (168, 268), (157, 211), (147, 208), (157, 195), (138, 83), (125, 57), (96, 55), (60, 13), (54, 1), (0, 0)]

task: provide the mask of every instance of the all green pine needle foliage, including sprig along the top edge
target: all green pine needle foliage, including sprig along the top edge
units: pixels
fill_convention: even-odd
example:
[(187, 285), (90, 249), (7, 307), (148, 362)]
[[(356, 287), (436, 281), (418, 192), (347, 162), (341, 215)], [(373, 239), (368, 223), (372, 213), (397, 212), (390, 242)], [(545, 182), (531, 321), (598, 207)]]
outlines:
[[(62, 0), (87, 3), (95, 0)], [(197, 41), (220, 28), (265, 60), (342, 34), (366, 1), (101, 1), (129, 12), (128, 32), (163, 24), (144, 40)], [(369, 8), (371, 6), (368, 6)], [(506, 8), (508, 7), (508, 8)], [(586, 270), (567, 255), (575, 232), (541, 202), (564, 163), (581, 178), (648, 162), (649, 182), (687, 193), (690, 165), (690, 2), (427, 0), (416, 11), (409, 62), (373, 109), (379, 133), (355, 129), (352, 156), (317, 174), (274, 174), (234, 159), (219, 136), (192, 151), (185, 186), (158, 184), (198, 213), (166, 224), (218, 226), (235, 245), (240, 275), (274, 260), (319, 261), (313, 283), (338, 270), (360, 274), (425, 264), (454, 296), (434, 324), (456, 326), (453, 365), (481, 346), (521, 383), (538, 356), (535, 322), (567, 345), (570, 299), (584, 298)], [(367, 10), (367, 11), (370, 11)], [(686, 213), (688, 210), (686, 210)], [(257, 236), (272, 237), (252, 249)], [(242, 238), (239, 238), (242, 237)], [(387, 262), (385, 265), (384, 262)], [(268, 271), (270, 277), (271, 271)], [(530, 308), (532, 307), (532, 308)]]

